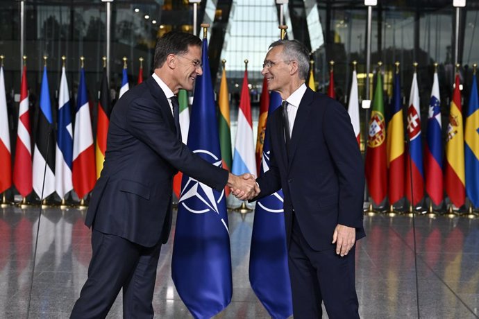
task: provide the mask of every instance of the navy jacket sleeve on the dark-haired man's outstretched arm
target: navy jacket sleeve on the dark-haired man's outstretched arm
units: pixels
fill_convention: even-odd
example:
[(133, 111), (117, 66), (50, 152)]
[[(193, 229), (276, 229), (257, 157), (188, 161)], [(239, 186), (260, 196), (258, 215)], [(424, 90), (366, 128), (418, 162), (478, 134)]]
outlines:
[(151, 147), (178, 171), (217, 190), (226, 186), (228, 171), (203, 160), (178, 140), (158, 105), (146, 98), (135, 98), (128, 107), (126, 122), (131, 135)]

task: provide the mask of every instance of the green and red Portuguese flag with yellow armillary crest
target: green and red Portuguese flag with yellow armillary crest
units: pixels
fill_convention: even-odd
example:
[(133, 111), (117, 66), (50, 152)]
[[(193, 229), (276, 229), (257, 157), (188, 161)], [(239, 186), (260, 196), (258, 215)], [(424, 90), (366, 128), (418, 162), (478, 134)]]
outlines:
[(384, 119), (383, 80), (378, 70), (376, 92), (373, 98), (373, 110), (369, 120), (369, 132), (366, 151), (366, 180), (369, 194), (376, 205), (386, 198), (387, 190), (387, 154), (386, 123)]

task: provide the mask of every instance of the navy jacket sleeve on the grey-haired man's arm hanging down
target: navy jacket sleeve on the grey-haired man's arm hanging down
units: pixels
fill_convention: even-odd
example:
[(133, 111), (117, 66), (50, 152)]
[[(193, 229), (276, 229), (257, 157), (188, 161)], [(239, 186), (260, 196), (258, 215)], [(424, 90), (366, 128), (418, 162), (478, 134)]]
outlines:
[(362, 227), (364, 165), (351, 119), (342, 105), (327, 104), (323, 130), (339, 181), (338, 223)]

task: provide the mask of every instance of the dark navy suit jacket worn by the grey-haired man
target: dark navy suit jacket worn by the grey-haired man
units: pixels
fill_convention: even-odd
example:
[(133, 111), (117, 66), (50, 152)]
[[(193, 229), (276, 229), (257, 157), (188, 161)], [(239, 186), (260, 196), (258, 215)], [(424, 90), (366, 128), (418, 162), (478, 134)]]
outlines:
[(283, 107), (267, 121), (271, 157), (269, 171), (257, 182), (267, 196), (283, 188), (287, 244), (292, 212), (314, 250), (335, 248), (336, 225), (356, 228), (362, 238), (364, 169), (351, 119), (344, 107), (308, 88), (301, 99), (286, 150)]

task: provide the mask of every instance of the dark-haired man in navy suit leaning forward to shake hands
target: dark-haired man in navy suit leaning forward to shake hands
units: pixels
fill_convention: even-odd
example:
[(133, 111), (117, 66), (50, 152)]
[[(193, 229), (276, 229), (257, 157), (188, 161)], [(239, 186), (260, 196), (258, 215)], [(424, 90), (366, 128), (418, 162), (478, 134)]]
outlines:
[(123, 288), (124, 318), (153, 318), (151, 300), (160, 247), (171, 227), (171, 194), (179, 171), (217, 190), (258, 193), (254, 178), (235, 176), (181, 142), (178, 89), (192, 90), (201, 69), (201, 40), (167, 33), (155, 50), (155, 71), (122, 96), (110, 118), (101, 177), (85, 224), (92, 260), (71, 318), (105, 318)]

